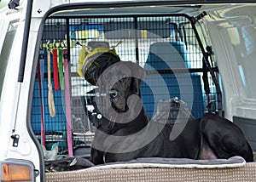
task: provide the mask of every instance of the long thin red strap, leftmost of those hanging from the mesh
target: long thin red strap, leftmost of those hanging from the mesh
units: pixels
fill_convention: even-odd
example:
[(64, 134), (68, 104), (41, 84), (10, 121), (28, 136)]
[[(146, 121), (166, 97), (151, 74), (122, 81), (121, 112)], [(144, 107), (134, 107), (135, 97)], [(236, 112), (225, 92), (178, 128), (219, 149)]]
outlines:
[(38, 61), (38, 86), (39, 97), (41, 100), (41, 144), (45, 146), (45, 132), (44, 132), (44, 49), (39, 51)]

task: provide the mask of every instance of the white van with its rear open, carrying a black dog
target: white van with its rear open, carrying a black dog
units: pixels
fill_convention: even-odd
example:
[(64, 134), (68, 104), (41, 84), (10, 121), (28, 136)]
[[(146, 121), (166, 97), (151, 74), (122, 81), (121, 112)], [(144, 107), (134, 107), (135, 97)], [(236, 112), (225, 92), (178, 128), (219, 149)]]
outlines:
[(78, 171), (73, 161), (90, 162), (102, 117), (96, 97), (104, 95), (78, 71), (83, 48), (88, 55), (94, 46), (144, 68), (148, 117), (160, 100), (176, 100), (194, 118), (235, 122), (256, 151), (256, 1), (1, 1), (0, 30), (1, 181), (256, 180), (255, 162)]

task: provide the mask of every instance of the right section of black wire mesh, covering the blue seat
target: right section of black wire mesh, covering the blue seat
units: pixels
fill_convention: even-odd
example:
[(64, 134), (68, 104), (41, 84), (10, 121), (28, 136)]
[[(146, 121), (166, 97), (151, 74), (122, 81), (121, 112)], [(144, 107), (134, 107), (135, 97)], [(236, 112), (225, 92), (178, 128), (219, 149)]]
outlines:
[(150, 117), (159, 100), (177, 97), (194, 117), (205, 111), (202, 90), (202, 52), (185, 16), (139, 17), (138, 27), (145, 31), (138, 47), (144, 48), (141, 65), (148, 71), (142, 85), (143, 104)]

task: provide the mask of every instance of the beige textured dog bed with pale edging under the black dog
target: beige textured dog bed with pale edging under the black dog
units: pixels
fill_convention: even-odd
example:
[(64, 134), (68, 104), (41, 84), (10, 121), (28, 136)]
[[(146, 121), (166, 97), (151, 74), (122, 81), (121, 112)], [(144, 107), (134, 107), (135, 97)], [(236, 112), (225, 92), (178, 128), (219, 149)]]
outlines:
[[(179, 163), (133, 161), (110, 163), (71, 172), (46, 173), (46, 181), (256, 181), (256, 162), (246, 163), (240, 157), (213, 160), (181, 159)], [(194, 161), (194, 162), (193, 162)]]

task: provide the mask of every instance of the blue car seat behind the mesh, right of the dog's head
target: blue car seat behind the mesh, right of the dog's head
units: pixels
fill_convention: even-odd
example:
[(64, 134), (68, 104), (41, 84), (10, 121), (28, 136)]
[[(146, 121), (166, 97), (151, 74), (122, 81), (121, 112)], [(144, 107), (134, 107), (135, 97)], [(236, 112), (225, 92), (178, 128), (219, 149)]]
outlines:
[(189, 73), (189, 59), (183, 42), (153, 43), (144, 65), (147, 76), (141, 84), (143, 107), (153, 117), (160, 100), (177, 97), (187, 103), (193, 117), (204, 113), (201, 76)]

